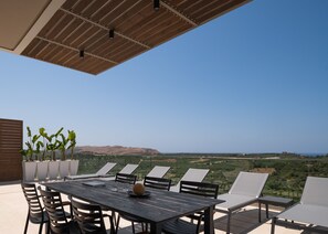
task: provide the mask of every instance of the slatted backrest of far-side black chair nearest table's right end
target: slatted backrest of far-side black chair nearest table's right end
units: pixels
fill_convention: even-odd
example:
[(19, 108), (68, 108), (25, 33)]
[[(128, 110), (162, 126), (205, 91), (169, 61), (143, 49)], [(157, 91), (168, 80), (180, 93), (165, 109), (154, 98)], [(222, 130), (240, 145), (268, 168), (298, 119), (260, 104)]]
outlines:
[(218, 192), (219, 184), (194, 181), (180, 182), (180, 193), (189, 193), (216, 199)]

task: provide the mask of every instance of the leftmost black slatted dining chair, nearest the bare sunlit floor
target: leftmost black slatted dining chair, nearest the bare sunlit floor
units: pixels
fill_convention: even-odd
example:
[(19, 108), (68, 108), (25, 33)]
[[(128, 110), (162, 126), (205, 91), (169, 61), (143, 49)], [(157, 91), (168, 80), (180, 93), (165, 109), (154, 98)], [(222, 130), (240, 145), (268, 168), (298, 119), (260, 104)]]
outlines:
[(40, 224), (39, 234), (41, 234), (43, 224), (49, 222), (49, 217), (41, 205), (36, 187), (34, 183), (21, 183), (21, 187), (29, 205), (24, 234), (28, 233), (29, 222)]

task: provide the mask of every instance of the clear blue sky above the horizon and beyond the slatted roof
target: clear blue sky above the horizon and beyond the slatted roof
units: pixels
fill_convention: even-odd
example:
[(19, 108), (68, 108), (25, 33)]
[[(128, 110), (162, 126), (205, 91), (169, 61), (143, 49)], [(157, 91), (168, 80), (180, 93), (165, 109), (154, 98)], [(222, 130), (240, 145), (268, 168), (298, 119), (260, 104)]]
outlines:
[(0, 118), (80, 146), (327, 153), (327, 9), (255, 0), (97, 76), (0, 52)]

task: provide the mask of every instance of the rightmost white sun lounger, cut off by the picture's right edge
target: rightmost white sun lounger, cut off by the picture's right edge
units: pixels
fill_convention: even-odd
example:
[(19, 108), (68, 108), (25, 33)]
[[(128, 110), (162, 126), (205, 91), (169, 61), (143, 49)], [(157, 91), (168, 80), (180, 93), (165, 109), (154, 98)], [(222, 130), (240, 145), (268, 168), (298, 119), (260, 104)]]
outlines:
[[(300, 227), (299, 223), (311, 225)], [(273, 217), (272, 233), (275, 232), (275, 224), (327, 233), (327, 228), (320, 228), (328, 227), (328, 178), (308, 177), (299, 203)]]

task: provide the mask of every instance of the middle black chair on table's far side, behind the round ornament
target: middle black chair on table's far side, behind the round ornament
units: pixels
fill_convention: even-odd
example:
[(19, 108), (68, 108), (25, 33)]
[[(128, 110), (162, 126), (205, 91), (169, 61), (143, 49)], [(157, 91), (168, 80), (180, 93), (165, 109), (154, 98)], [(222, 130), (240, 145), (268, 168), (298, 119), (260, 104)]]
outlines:
[[(144, 180), (144, 185), (147, 188), (151, 188), (151, 189), (159, 189), (159, 190), (170, 190), (171, 187), (171, 180), (170, 179), (166, 179), (166, 178), (155, 178), (155, 177), (145, 177)], [(142, 232), (147, 232), (148, 231), (148, 224), (146, 223), (146, 227), (144, 226), (144, 221), (139, 220), (137, 217), (130, 216), (130, 215), (126, 215), (126, 214), (120, 214), (118, 215), (118, 221), (117, 221), (117, 226), (119, 223), (119, 217), (123, 217), (127, 221), (130, 221), (133, 224), (133, 233), (136, 233), (135, 230), (135, 223), (141, 223), (142, 226)]]

